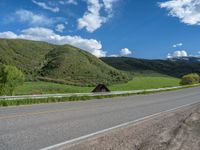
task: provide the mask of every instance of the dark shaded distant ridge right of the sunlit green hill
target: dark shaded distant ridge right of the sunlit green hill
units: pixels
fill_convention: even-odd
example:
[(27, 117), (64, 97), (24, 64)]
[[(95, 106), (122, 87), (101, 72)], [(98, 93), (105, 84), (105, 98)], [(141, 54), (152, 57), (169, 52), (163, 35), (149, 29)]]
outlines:
[(200, 74), (200, 62), (184, 62), (169, 60), (146, 60), (127, 57), (107, 57), (101, 58), (105, 63), (119, 70), (131, 72), (154, 71), (174, 77), (182, 77), (188, 73)]

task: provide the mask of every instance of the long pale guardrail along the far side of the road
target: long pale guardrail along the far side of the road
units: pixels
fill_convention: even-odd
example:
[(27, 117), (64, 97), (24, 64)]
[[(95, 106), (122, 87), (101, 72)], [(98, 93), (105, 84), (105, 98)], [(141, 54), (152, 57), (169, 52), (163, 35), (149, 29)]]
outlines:
[(132, 91), (114, 91), (106, 93), (68, 93), (68, 94), (41, 94), (41, 95), (20, 95), (20, 96), (0, 96), (0, 100), (23, 100), (23, 99), (45, 99), (45, 98), (63, 98), (71, 96), (103, 96), (103, 95), (121, 95), (121, 94), (139, 94), (143, 92), (159, 92), (165, 90), (173, 90), (184, 88), (187, 86), (176, 86), (168, 88), (132, 90)]

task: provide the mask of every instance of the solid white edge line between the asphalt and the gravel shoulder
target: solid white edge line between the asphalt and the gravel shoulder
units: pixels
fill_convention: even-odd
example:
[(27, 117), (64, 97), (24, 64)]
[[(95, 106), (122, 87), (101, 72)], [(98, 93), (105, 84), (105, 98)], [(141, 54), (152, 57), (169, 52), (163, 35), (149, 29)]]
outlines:
[(152, 117), (155, 117), (155, 116), (158, 116), (158, 115), (167, 113), (167, 112), (171, 112), (171, 111), (174, 111), (174, 110), (178, 110), (178, 109), (183, 108), (183, 107), (187, 107), (187, 106), (191, 106), (191, 105), (194, 105), (194, 104), (198, 104), (198, 103), (199, 103), (199, 102), (194, 102), (194, 103), (182, 105), (182, 106), (179, 106), (179, 107), (176, 107), (176, 108), (173, 108), (173, 109), (161, 111), (161, 112), (159, 112), (159, 113), (155, 113), (155, 114), (152, 114), (152, 115), (143, 117), (143, 118), (139, 118), (139, 119), (136, 119), (136, 120), (134, 120), (134, 121), (129, 121), (129, 122), (126, 122), (126, 123), (123, 123), (123, 124), (119, 124), (119, 125), (114, 126), (114, 127), (111, 127), (111, 128), (107, 128), (107, 129), (104, 129), (104, 130), (101, 130), (101, 131), (98, 131), (98, 132), (94, 132), (94, 133), (91, 133), (91, 134), (87, 134), (87, 135), (84, 135), (84, 136), (81, 136), (81, 137), (78, 137), (78, 138), (75, 138), (75, 139), (71, 139), (71, 140), (68, 140), (68, 141), (65, 141), (65, 142), (62, 142), (62, 143), (59, 143), (59, 144), (55, 144), (55, 145), (52, 145), (52, 146), (49, 146), (49, 147), (46, 147), (46, 148), (42, 148), (42, 149), (40, 149), (40, 150), (51, 150), (51, 149), (56, 149), (56, 148), (59, 148), (59, 147), (61, 147), (61, 146), (64, 146), (64, 145), (67, 145), (67, 144), (71, 144), (71, 143), (74, 143), (74, 142), (77, 142), (77, 141), (81, 141), (81, 140), (90, 138), (90, 137), (92, 137), (92, 136), (95, 136), (95, 135), (99, 135), (99, 134), (108, 132), (108, 131), (113, 130), (113, 129), (117, 129), (117, 128), (120, 128), (120, 127), (123, 127), (123, 126), (127, 126), (127, 125), (130, 125), (130, 124), (136, 125), (136, 124), (138, 124), (138, 123), (144, 122), (146, 119), (149, 119), (149, 118), (152, 118)]

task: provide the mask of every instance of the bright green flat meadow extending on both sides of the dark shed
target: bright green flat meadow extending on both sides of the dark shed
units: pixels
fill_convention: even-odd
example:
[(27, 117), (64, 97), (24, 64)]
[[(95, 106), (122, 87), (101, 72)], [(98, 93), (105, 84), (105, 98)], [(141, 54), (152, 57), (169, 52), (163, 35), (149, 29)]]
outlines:
[[(115, 84), (109, 86), (111, 91), (128, 91), (139, 89), (152, 89), (178, 86), (180, 79), (152, 74), (144, 76), (137, 74), (131, 81), (126, 84)], [(94, 87), (78, 87), (50, 82), (26, 82), (23, 86), (16, 89), (16, 95), (26, 94), (55, 94), (55, 93), (88, 93)]]

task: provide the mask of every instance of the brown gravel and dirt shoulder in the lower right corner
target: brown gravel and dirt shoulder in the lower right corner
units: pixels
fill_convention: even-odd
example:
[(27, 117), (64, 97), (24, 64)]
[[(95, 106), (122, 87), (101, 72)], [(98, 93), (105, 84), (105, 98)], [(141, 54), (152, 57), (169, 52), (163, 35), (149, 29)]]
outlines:
[(199, 150), (200, 104), (152, 117), (59, 150)]

